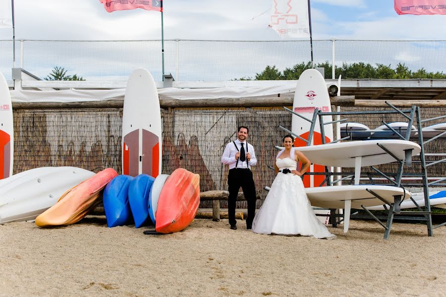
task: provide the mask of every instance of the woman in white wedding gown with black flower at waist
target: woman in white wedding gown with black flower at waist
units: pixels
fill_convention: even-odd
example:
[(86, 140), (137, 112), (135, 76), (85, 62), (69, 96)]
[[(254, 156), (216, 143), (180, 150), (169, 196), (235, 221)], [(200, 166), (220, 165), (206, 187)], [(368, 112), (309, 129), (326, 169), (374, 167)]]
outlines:
[[(333, 239), (336, 236), (318, 220), (305, 194), (300, 176), (310, 167), (310, 161), (302, 152), (292, 148), (293, 142), (291, 135), (283, 137), (285, 149), (276, 157), (277, 176), (254, 217), (252, 231)], [(300, 171), (296, 170), (297, 161), (303, 163)]]

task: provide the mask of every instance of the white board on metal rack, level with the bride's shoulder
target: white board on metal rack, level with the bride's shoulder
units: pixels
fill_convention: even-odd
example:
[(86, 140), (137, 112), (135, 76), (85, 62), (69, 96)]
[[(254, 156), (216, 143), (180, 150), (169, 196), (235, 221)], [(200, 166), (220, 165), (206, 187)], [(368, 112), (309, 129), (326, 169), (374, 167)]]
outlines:
[(412, 156), (421, 151), (421, 147), (411, 141), (399, 139), (350, 141), (299, 148), (312, 162), (326, 166), (355, 167), (356, 157), (361, 157), (361, 166), (374, 166), (395, 162), (381, 144), (399, 159), (404, 159), (404, 149), (412, 149)]

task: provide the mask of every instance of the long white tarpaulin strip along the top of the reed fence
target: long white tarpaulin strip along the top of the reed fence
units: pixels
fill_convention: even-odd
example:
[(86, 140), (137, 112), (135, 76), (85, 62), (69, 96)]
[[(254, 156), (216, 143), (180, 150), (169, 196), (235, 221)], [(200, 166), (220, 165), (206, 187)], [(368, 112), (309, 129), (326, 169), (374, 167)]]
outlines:
[[(281, 81), (269, 87), (223, 87), (210, 89), (158, 89), (158, 95), (171, 99), (218, 99), (269, 96), (294, 92), (295, 81)], [(85, 102), (101, 100), (123, 100), (125, 89), (113, 90), (60, 90), (27, 91), (13, 90), (12, 102)]]

